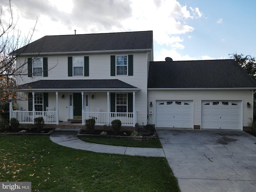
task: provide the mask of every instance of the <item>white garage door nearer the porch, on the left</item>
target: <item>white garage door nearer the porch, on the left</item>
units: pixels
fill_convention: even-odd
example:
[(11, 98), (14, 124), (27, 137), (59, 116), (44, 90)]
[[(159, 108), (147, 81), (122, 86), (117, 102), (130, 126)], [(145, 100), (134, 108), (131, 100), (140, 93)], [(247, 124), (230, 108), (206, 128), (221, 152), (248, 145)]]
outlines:
[(156, 101), (156, 127), (192, 128), (193, 101)]

